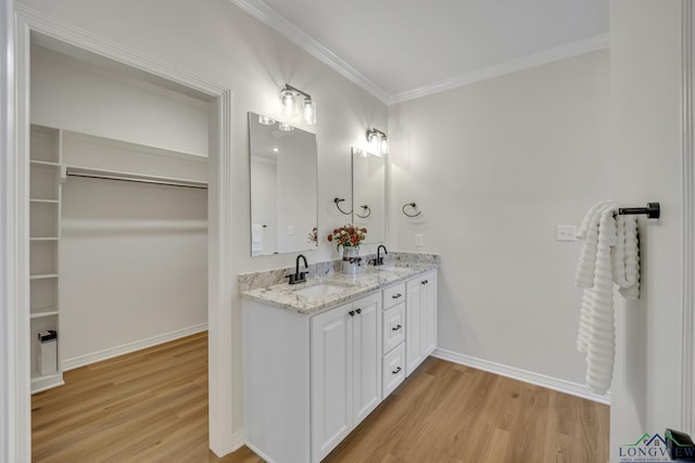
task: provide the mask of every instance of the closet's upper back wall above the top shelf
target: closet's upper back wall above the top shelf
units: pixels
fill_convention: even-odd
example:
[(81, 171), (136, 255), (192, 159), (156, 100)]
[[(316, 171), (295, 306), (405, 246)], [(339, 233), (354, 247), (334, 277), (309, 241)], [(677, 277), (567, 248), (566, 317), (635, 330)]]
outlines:
[(206, 102), (41, 47), (31, 123), (207, 156)]

